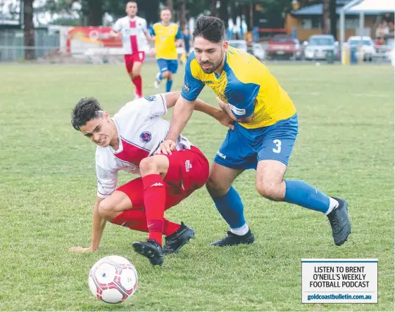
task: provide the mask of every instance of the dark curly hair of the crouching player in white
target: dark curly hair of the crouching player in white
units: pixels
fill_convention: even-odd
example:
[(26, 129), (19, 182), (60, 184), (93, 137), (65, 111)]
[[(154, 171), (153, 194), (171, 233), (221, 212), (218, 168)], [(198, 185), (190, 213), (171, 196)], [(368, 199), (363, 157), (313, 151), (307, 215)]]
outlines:
[(75, 130), (80, 131), (90, 119), (94, 119), (102, 112), (99, 100), (96, 98), (81, 98), (71, 111), (71, 124)]

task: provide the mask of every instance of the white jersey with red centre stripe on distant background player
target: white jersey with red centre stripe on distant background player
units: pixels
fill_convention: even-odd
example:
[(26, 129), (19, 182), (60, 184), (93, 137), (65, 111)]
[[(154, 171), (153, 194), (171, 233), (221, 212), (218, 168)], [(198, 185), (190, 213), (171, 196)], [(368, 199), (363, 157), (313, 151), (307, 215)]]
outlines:
[(114, 32), (122, 33), (122, 44), (125, 54), (148, 51), (148, 43), (145, 33), (147, 32), (144, 18), (120, 18), (113, 25)]

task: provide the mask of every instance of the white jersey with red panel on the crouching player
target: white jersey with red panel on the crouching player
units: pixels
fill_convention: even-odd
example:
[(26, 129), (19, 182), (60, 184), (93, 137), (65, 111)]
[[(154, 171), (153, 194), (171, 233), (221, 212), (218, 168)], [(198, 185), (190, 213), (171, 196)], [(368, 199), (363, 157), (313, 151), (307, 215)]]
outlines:
[[(113, 117), (119, 148), (96, 148), (97, 196), (106, 198), (117, 187), (118, 171), (139, 174), (143, 158), (152, 155), (168, 134), (170, 123), (160, 116), (168, 112), (164, 94), (126, 103)], [(184, 136), (177, 138), (177, 150), (190, 149)]]

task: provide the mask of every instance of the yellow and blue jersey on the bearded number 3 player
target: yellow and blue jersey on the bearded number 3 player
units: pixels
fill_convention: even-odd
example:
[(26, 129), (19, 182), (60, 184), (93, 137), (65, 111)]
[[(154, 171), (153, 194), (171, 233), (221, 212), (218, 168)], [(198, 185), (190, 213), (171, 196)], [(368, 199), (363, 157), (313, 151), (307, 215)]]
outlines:
[(209, 86), (228, 103), (237, 119), (253, 114), (251, 122), (240, 123), (247, 129), (270, 126), (296, 113), (291, 98), (268, 67), (251, 54), (231, 46), (220, 75), (203, 72), (194, 53), (191, 53), (185, 67), (182, 97), (195, 100), (204, 86)]

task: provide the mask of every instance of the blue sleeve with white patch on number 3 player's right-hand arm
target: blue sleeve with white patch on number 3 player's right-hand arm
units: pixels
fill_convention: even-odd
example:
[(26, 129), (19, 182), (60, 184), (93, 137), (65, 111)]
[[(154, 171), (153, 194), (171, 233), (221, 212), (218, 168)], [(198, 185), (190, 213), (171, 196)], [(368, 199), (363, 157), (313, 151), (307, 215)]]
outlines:
[(225, 96), (237, 119), (249, 117), (255, 108), (255, 99), (259, 92), (258, 84), (243, 84), (237, 82), (229, 84), (225, 88)]

